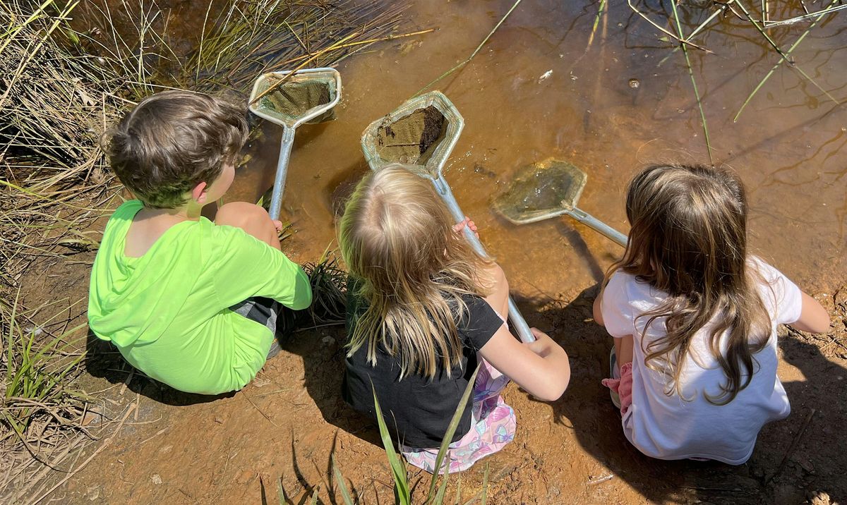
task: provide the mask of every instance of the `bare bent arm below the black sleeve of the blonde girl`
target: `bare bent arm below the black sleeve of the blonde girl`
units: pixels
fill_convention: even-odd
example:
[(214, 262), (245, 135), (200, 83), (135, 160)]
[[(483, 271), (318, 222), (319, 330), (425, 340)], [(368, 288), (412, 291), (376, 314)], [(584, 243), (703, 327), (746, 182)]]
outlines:
[(571, 367), (565, 349), (538, 328), (531, 329), (537, 340), (521, 343), (504, 324), (479, 353), (534, 397), (551, 402), (565, 392)]

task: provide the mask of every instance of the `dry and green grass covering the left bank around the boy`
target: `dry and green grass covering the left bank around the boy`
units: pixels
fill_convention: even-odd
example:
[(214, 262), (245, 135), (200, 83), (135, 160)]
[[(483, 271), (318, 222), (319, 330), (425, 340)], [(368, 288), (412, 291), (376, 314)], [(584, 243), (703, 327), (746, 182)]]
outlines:
[[(104, 447), (76, 464), (93, 439), (84, 422), (92, 398), (70, 386), (86, 332), (68, 326), (84, 317), (84, 304), (51, 302), (69, 315), (59, 324), (42, 321), (43, 305), (36, 312), (19, 301), (27, 278), (58, 262), (90, 264), (97, 250), (91, 225), (119, 203), (102, 132), (163, 88), (243, 93), (266, 71), (337, 63), (395, 38), (406, 4), (210, 2), (204, 19), (187, 19), (198, 27), (197, 41), (185, 31), (171, 36), (186, 15), (179, 9), (196, 3), (179, 5), (0, 3), (0, 502), (41, 500)], [(319, 294), (309, 320), (343, 318), (335, 261), (307, 270)], [(54, 470), (64, 473), (55, 478)], [(47, 487), (51, 478), (58, 483)]]

